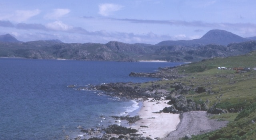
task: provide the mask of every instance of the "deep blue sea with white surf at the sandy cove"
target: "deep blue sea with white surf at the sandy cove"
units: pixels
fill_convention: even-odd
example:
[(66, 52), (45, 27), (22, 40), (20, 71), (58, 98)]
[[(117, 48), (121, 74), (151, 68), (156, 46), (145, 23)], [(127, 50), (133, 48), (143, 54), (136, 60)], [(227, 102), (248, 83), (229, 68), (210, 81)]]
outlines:
[(155, 81), (129, 74), (180, 64), (0, 58), (0, 140), (64, 140), (120, 124), (110, 116), (134, 114), (138, 102), (68, 86)]

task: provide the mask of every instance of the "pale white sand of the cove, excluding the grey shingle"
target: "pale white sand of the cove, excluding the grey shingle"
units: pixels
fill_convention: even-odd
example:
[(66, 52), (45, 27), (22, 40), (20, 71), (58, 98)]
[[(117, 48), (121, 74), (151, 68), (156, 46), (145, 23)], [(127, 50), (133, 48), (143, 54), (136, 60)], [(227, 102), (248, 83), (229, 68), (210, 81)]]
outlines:
[[(142, 119), (135, 122), (131, 128), (139, 130), (137, 133), (145, 137), (148, 136), (152, 139), (156, 137), (164, 138), (170, 132), (176, 130), (176, 126), (180, 122), (179, 114), (153, 113), (163, 110), (166, 106), (170, 106), (167, 104), (169, 100), (154, 102), (150, 102), (150, 100), (152, 100), (152, 98), (143, 102), (142, 108), (138, 114)], [(140, 126), (148, 126), (148, 128)]]

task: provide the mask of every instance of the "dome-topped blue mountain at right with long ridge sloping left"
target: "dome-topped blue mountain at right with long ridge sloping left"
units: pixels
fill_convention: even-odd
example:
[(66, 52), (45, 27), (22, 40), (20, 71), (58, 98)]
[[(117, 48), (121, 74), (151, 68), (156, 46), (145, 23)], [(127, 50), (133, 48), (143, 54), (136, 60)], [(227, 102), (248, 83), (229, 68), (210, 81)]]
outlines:
[(228, 45), (230, 43), (239, 43), (249, 41), (249, 38), (243, 38), (231, 32), (225, 30), (210, 30), (204, 36), (199, 39), (194, 40), (167, 40), (162, 41), (156, 45), (168, 46), (168, 45), (183, 45), (183, 46), (202, 46), (207, 44), (218, 44), (218, 45)]

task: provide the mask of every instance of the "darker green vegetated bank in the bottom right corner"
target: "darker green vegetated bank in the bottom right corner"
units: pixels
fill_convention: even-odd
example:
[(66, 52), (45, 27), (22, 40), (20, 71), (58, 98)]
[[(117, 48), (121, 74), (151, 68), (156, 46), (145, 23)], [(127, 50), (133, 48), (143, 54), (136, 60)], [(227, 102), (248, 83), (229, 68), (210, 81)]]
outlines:
[[(213, 119), (223, 118), (223, 120), (229, 120), (230, 123), (220, 130), (192, 136), (191, 140), (255, 140), (256, 103), (248, 106), (248, 108), (244, 109), (237, 116), (236, 114), (228, 113), (213, 116)], [(235, 119), (234, 116), (236, 116)]]

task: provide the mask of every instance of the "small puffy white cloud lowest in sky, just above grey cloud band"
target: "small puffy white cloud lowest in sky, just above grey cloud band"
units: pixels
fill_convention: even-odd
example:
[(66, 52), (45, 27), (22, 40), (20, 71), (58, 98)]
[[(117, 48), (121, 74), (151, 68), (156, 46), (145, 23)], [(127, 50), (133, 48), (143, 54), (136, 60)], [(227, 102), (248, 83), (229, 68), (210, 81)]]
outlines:
[(49, 28), (51, 30), (57, 30), (57, 31), (67, 31), (67, 30), (70, 30), (73, 28), (72, 26), (64, 24), (61, 21), (55, 21), (52, 23), (48, 23), (45, 26), (46, 26), (46, 28)]

